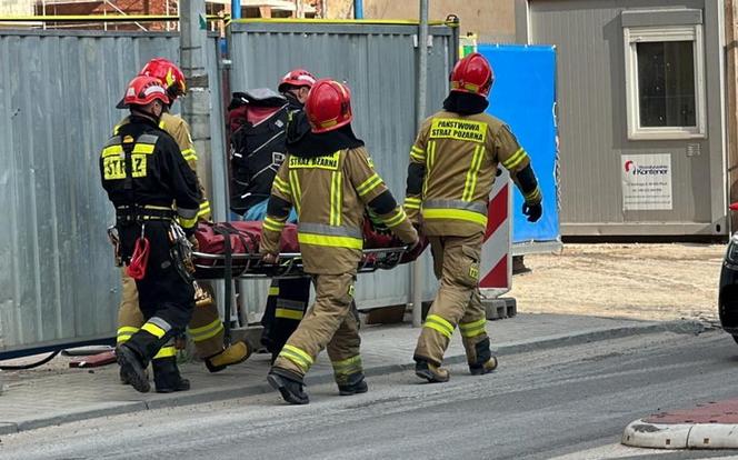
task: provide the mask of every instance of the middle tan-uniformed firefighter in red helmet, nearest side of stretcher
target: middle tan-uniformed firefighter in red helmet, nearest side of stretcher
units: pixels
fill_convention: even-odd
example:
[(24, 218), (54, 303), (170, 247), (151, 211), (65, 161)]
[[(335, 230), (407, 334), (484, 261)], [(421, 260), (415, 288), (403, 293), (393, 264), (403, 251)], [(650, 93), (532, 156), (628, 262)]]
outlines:
[(305, 271), (313, 277), (316, 301), (267, 378), (293, 404), (308, 403), (303, 376), (326, 347), (339, 393), (368, 389), (359, 354), (358, 319), (351, 311), (365, 208), (377, 213), (406, 243), (418, 241), (405, 210), (375, 172), (363, 142), (353, 136), (348, 88), (319, 80), (310, 90), (306, 111), (311, 132), (289, 148), (275, 178), (261, 240), (265, 261), (275, 262), (285, 221), (290, 209), (297, 209), (298, 241)]

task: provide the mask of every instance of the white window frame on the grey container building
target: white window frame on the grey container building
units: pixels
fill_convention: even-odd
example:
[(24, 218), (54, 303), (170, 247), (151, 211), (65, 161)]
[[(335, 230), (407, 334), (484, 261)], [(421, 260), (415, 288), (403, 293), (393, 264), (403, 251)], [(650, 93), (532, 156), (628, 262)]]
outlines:
[[(626, 57), (626, 92), (628, 139), (699, 139), (707, 137), (705, 109), (705, 47), (702, 24), (626, 27), (622, 29)], [(695, 59), (695, 120), (696, 127), (642, 127), (638, 103), (637, 43), (660, 41), (691, 41)]]

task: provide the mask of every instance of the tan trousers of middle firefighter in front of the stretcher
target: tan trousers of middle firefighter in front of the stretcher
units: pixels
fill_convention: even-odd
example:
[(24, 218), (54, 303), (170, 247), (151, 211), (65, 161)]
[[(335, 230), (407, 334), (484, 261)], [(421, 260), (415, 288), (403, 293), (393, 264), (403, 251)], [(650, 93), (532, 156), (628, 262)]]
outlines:
[(362, 373), (359, 318), (353, 304), (356, 272), (315, 277), (316, 301), (275, 360), (275, 368), (303, 377), (323, 348), (339, 386)]

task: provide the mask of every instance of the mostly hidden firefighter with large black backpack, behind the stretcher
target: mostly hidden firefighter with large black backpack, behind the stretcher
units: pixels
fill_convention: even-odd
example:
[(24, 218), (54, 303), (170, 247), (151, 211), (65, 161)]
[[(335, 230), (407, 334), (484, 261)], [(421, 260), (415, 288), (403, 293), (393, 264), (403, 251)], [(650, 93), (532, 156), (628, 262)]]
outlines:
[[(279, 82), (281, 97), (270, 90), (233, 93), (231, 129), (231, 211), (245, 220), (263, 220), (275, 176), (287, 157), (287, 146), (310, 131), (305, 102), (316, 78), (305, 69), (287, 72)], [(289, 223), (297, 222), (291, 212)], [(272, 362), (295, 332), (310, 300), (310, 277), (272, 279), (261, 324), (261, 343)]]

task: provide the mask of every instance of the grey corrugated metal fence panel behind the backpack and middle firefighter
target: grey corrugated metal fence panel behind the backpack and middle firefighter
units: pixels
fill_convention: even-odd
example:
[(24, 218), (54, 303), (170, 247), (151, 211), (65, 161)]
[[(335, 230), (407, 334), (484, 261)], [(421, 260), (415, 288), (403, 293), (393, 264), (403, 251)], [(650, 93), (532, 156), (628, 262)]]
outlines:
[[(293, 68), (318, 78), (345, 80), (352, 97), (357, 136), (367, 144), (378, 172), (398, 199), (405, 196), (408, 151), (416, 136), (417, 27), (405, 24), (235, 23), (231, 26), (231, 90), (276, 88)], [(428, 58), (428, 113), (439, 110), (448, 91), (453, 37), (448, 27), (431, 27)], [(426, 256), (427, 257), (427, 256)], [(427, 259), (425, 299), (435, 280)], [(361, 276), (360, 308), (409, 301), (409, 266)], [(249, 283), (249, 286), (255, 283)], [(247, 294), (262, 306), (266, 289)], [(247, 288), (248, 289), (248, 288)]]

